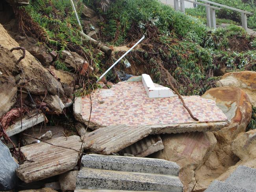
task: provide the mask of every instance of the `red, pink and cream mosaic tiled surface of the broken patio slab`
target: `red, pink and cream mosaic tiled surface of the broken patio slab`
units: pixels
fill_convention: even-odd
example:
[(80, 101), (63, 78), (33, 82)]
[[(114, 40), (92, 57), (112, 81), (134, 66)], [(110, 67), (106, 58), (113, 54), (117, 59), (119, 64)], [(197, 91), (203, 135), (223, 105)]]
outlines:
[[(111, 89), (98, 89), (91, 94), (91, 122), (102, 126), (113, 124), (159, 125), (195, 123), (177, 97), (148, 98), (141, 81), (120, 82)], [(200, 96), (184, 96), (184, 101), (199, 123), (226, 122), (225, 114), (215, 101)], [(89, 120), (89, 96), (82, 98), (82, 118)], [(198, 123), (198, 122), (197, 122)], [(223, 126), (224, 127), (224, 126)]]

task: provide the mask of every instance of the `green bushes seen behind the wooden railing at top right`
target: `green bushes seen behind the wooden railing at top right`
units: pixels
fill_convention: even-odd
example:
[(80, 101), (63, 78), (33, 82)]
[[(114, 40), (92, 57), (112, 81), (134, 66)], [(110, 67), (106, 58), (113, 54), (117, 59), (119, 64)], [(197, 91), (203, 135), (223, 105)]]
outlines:
[[(222, 5), (234, 7), (251, 13), (256, 13), (256, 3), (254, 0), (211, 0)], [(200, 2), (200, 1), (198, 1)], [(206, 10), (204, 6), (198, 6), (196, 9), (186, 9), (186, 13), (191, 16), (200, 17), (206, 23)], [(241, 25), (241, 13), (230, 9), (222, 8), (216, 10), (217, 24), (230, 23)], [(248, 27), (256, 30), (256, 15), (251, 15), (247, 19)]]

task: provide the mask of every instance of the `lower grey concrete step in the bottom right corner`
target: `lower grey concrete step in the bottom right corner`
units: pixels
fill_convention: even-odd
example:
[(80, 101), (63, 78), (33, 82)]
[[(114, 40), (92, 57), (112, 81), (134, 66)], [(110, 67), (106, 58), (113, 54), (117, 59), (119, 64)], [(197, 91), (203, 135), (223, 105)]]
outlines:
[(210, 186), (204, 192), (255, 192), (255, 190), (249, 190), (215, 180), (211, 182)]

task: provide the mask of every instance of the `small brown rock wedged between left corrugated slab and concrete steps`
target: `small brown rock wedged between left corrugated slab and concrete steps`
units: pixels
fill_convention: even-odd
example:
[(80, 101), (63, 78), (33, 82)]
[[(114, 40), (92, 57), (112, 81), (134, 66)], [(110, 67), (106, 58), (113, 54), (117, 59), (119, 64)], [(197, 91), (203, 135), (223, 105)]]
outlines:
[(79, 171), (69, 171), (59, 176), (61, 191), (73, 191), (76, 188), (76, 175)]

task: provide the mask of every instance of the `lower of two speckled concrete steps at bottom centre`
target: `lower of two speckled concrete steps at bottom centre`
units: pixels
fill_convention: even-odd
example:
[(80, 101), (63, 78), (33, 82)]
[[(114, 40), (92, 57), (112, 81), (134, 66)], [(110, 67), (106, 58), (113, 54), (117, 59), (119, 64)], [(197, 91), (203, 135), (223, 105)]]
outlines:
[(76, 177), (76, 189), (182, 192), (183, 185), (177, 176), (172, 175), (83, 167)]

